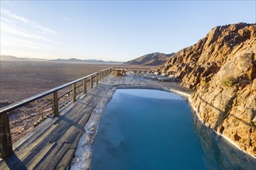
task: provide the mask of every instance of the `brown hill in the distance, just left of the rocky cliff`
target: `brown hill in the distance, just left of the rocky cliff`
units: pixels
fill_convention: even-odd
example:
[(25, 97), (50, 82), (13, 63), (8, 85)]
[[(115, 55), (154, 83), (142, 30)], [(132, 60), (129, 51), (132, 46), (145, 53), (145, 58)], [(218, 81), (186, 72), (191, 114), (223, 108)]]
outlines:
[(143, 65), (143, 66), (161, 66), (168, 61), (175, 53), (150, 53), (140, 56), (137, 59), (130, 60), (126, 64), (130, 65)]

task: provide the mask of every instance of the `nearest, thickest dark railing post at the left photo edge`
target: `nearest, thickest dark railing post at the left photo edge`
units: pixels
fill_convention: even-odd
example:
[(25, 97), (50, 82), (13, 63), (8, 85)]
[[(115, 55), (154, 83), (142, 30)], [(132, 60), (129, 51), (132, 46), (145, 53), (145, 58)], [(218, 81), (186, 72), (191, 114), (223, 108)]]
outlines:
[(0, 158), (12, 155), (12, 136), (9, 115), (0, 115)]

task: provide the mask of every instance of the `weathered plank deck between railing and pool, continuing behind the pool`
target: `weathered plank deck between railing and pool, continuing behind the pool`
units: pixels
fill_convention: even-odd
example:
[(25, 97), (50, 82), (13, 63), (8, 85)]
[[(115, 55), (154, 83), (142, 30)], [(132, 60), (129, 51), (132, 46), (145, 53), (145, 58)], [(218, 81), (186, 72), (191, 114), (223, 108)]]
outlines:
[(0, 169), (68, 169), (84, 126), (104, 95), (116, 85), (144, 85), (185, 90), (177, 83), (143, 76), (108, 76), (98, 86), (48, 118), (14, 144), (14, 154), (0, 162)]

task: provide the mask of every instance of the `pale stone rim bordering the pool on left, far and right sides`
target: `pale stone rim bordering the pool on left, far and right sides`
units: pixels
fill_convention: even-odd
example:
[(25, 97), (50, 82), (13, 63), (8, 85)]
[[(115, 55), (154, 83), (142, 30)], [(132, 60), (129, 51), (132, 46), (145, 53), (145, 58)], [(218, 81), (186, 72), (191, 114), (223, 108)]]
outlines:
[[(75, 152), (74, 158), (71, 163), (71, 169), (78, 169), (78, 168), (85, 168), (85, 169), (91, 169), (92, 168), (92, 145), (95, 140), (95, 136), (98, 132), (99, 123), (101, 121), (102, 115), (106, 109), (106, 105), (109, 104), (109, 101), (112, 99), (113, 94), (116, 92), (117, 89), (147, 89), (147, 90), (161, 90), (166, 91), (169, 93), (175, 93), (179, 96), (183, 97), (189, 104), (189, 106), (192, 108), (192, 111), (195, 112), (197, 118), (199, 118), (199, 121), (203, 123), (202, 119), (199, 117), (199, 112), (196, 110), (196, 108), (192, 104), (191, 99), (191, 92), (185, 91), (185, 90), (178, 90), (177, 88), (167, 88), (162, 86), (152, 86), (152, 85), (134, 85), (134, 84), (118, 84), (112, 86), (106, 93), (105, 97), (102, 97), (99, 104), (95, 107), (95, 109), (92, 111), (91, 117), (89, 118), (88, 122), (85, 124), (85, 133), (82, 134), (80, 141), (78, 143), (77, 151)], [(206, 126), (206, 124), (204, 124)], [(208, 128), (208, 127), (207, 127)], [(211, 128), (210, 128), (211, 129)], [(213, 130), (213, 129), (211, 129)], [(214, 130), (213, 130), (214, 131)], [(238, 148), (240, 151), (243, 151), (234, 141), (231, 141), (230, 138), (227, 138), (225, 135), (218, 133), (216, 134), (222, 136), (224, 139), (226, 139), (231, 145), (234, 145), (235, 148)], [(243, 151), (247, 155), (250, 155), (246, 151)], [(251, 155), (251, 157), (254, 157), (254, 155)]]

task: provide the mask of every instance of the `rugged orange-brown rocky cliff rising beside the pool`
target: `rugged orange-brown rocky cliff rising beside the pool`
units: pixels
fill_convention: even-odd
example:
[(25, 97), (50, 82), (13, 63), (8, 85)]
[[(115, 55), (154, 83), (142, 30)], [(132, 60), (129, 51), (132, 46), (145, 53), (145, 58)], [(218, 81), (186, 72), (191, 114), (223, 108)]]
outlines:
[(194, 89), (199, 118), (256, 157), (256, 25), (216, 26), (158, 70)]

